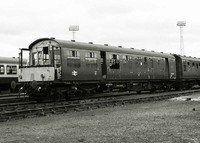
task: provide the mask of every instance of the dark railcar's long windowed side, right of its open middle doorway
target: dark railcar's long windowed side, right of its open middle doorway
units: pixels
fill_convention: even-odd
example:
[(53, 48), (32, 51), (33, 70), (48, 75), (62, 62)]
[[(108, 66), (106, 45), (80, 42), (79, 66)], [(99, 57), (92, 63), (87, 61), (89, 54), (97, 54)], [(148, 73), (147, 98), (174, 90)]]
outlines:
[(107, 80), (168, 80), (176, 78), (175, 58), (107, 52)]

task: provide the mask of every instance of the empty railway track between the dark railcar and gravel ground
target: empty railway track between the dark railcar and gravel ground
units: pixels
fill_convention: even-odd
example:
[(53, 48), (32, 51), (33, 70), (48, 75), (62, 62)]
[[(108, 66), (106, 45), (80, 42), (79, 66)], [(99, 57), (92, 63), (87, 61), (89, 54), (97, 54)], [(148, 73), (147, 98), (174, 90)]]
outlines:
[(191, 94), (194, 92), (200, 92), (200, 89), (142, 95), (127, 94), (125, 96), (108, 96), (93, 99), (62, 101), (53, 103), (24, 102), (23, 104), (5, 104), (4, 106), (0, 106), (0, 122), (31, 118), (36, 116), (45, 116), (48, 114), (77, 112), (88, 109), (104, 108), (108, 106), (165, 100), (173, 97)]

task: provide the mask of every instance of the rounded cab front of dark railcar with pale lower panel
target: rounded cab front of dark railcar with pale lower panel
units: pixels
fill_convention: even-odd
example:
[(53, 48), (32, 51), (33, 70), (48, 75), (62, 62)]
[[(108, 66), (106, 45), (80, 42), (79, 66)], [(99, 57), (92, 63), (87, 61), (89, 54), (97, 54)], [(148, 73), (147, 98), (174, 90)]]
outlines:
[[(26, 58), (26, 54), (28, 63), (23, 65), (21, 61)], [(35, 92), (59, 79), (61, 79), (60, 47), (55, 40), (38, 39), (28, 49), (21, 49), (19, 83)]]

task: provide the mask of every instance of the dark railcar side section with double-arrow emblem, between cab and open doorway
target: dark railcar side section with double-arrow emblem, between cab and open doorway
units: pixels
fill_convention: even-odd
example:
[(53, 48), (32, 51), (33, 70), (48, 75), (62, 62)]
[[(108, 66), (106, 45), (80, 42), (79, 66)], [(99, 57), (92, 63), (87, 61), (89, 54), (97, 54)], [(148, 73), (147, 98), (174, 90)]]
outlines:
[(87, 82), (102, 78), (99, 51), (62, 48), (61, 66), (63, 81)]

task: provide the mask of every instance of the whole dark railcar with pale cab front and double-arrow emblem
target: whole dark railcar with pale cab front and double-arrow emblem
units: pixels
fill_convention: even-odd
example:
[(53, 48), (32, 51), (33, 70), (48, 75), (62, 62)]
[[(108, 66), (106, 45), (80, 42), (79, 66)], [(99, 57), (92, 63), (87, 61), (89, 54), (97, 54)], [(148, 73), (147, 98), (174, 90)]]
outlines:
[(88, 96), (105, 91), (154, 91), (176, 87), (176, 57), (153, 51), (41, 38), (23, 52), (19, 83), (36, 100)]

